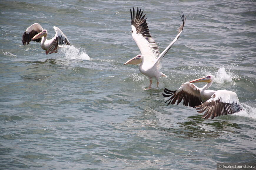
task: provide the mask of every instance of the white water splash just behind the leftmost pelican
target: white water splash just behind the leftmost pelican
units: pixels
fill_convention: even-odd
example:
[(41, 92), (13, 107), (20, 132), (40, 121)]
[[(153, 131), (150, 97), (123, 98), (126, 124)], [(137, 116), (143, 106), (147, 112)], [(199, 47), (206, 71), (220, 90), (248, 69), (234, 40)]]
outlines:
[(83, 48), (76, 48), (73, 45), (65, 46), (59, 50), (59, 54), (65, 59), (90, 60)]

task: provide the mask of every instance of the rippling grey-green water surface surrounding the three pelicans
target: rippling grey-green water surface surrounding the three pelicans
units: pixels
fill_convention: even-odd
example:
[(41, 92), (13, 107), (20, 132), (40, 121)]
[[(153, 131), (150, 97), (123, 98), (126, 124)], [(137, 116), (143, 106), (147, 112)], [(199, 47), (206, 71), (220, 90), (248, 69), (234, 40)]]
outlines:
[[(162, 52), (159, 87), (124, 62), (139, 54), (130, 11), (141, 7)], [(255, 162), (255, 1), (1, 1), (1, 169), (216, 169)], [(22, 45), (38, 22), (71, 46)], [(163, 88), (215, 76), (243, 111), (213, 120), (167, 106)], [(197, 84), (203, 86), (204, 84)]]

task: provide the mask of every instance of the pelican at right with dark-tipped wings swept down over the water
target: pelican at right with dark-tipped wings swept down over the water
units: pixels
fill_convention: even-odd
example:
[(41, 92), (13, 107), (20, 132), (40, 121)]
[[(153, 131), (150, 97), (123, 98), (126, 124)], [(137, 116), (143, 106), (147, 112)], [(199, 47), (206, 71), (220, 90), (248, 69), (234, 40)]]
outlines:
[[(166, 101), (169, 101), (167, 105), (170, 103), (175, 104), (176, 101), (179, 104), (183, 99), (184, 106), (194, 107), (198, 113), (205, 111), (205, 114), (202, 116), (205, 119), (211, 116), (213, 119), (217, 116), (228, 115), (242, 110), (242, 106), (235, 92), (227, 90), (206, 90), (212, 85), (213, 80), (214, 77), (212, 75), (207, 75), (200, 79), (187, 81), (175, 91), (164, 88), (164, 93), (166, 94), (163, 93), (163, 96), (170, 97)], [(207, 84), (202, 88), (198, 88), (193, 84), (197, 82), (206, 82)]]

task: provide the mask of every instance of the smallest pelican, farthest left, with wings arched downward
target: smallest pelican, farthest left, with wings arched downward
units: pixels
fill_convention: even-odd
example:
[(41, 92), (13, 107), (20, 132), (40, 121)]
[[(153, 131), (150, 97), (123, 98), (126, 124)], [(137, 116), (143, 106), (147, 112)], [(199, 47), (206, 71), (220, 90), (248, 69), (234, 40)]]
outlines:
[(46, 55), (50, 52), (57, 53), (58, 49), (63, 47), (61, 45), (70, 45), (66, 35), (58, 27), (53, 27), (55, 30), (54, 38), (47, 40), (47, 30), (44, 30), (39, 23), (34, 23), (22, 35), (23, 45), (29, 44), (30, 41), (41, 42), (41, 48), (45, 50)]

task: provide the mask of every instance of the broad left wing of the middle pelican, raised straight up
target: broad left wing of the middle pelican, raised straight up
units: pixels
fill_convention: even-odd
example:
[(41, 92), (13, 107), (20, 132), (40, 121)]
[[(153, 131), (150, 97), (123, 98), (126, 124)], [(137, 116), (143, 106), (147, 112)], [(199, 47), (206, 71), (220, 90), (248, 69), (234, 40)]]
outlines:
[(143, 11), (139, 10), (139, 8), (137, 8), (136, 15), (134, 8), (133, 11), (130, 9), (130, 12), (132, 18), (132, 38), (144, 56), (144, 60), (155, 62), (160, 52), (155, 40), (149, 33), (146, 22), (147, 18), (145, 18), (145, 15), (142, 16)]

